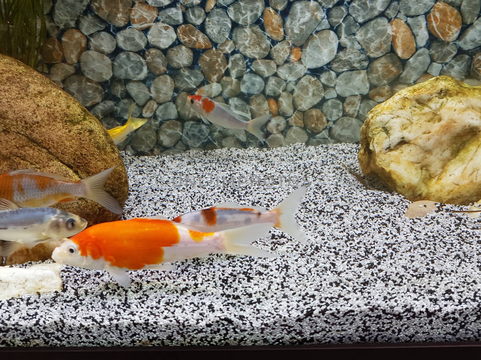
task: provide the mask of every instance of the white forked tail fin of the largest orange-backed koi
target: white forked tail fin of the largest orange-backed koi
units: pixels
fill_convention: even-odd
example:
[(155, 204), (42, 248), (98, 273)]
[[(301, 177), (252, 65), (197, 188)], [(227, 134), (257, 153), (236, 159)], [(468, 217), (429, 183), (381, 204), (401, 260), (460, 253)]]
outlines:
[(250, 245), (251, 242), (265, 237), (271, 227), (272, 223), (264, 223), (220, 231), (226, 247), (226, 250), (221, 253), (254, 257), (276, 257), (277, 254), (266, 252)]

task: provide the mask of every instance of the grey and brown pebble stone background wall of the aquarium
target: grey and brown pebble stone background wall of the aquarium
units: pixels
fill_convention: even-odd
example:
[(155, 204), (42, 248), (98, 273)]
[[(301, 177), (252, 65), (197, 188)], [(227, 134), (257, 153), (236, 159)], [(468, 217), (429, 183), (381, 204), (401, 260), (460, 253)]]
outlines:
[[(367, 112), (439, 74), (481, 84), (481, 0), (46, 0), (39, 70), (106, 128), (149, 118), (119, 148), (359, 141)], [(257, 117), (266, 144), (205, 125), (187, 96)]]

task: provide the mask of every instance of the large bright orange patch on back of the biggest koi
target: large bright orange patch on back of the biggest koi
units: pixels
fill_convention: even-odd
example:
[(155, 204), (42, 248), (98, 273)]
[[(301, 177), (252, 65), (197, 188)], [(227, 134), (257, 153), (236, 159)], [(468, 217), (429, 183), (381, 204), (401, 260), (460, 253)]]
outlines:
[(103, 256), (112, 266), (138, 270), (162, 263), (162, 247), (177, 244), (180, 235), (169, 220), (138, 218), (97, 224), (71, 240), (82, 256)]

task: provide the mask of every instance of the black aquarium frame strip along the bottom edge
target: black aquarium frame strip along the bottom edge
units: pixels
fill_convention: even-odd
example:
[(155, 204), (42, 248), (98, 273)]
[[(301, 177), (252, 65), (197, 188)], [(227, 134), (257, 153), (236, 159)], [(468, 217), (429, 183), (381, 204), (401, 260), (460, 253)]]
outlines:
[[(459, 359), (480, 360), (481, 342), (419, 342), (419, 343), (364, 343), (364, 344), (321, 344), (297, 346), (185, 346), (185, 347), (72, 347), (72, 348), (0, 348), (3, 359), (55, 359), (55, 356), (66, 355), (65, 359), (82, 359), (89, 356), (94, 359), (133, 359), (132, 356), (143, 356), (143, 359), (242, 359), (246, 357), (266, 356), (270, 359), (284, 359), (299, 356), (334, 356), (332, 359), (353, 359), (355, 354), (370, 358), (413, 357), (413, 360), (425, 359)], [(152, 357), (153, 355), (153, 357)], [(157, 355), (157, 356), (155, 356)], [(145, 358), (147, 356), (147, 358)], [(208, 357), (208, 358), (207, 358)], [(312, 358), (329, 359), (329, 358)], [(409, 359), (408, 359), (409, 360)]]

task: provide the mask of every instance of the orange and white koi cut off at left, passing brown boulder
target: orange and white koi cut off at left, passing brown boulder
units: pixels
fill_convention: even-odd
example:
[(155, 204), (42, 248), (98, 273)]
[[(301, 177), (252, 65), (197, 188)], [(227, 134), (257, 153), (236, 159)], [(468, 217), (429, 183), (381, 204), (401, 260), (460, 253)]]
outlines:
[(81, 196), (101, 204), (114, 214), (122, 214), (117, 201), (103, 190), (114, 168), (77, 181), (34, 169), (10, 171), (0, 175), (0, 198), (20, 207), (46, 207), (56, 203), (74, 203), (75, 196)]

